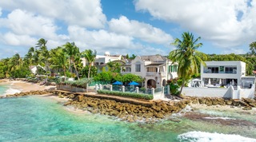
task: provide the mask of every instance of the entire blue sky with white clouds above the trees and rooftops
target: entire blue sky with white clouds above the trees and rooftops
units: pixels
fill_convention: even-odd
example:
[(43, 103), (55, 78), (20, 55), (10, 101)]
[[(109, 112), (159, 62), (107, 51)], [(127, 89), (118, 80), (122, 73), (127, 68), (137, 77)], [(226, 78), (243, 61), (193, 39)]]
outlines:
[(40, 38), (74, 41), (99, 55), (167, 55), (182, 33), (203, 53), (247, 53), (256, 41), (256, 0), (0, 0), (0, 58), (22, 57)]

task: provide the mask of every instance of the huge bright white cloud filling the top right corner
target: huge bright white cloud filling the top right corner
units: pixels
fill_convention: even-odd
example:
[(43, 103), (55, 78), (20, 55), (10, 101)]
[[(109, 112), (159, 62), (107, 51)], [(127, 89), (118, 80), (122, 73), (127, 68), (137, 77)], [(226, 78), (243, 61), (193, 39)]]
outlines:
[(178, 23), (221, 47), (242, 45), (256, 36), (255, 1), (137, 0), (134, 3), (136, 10)]

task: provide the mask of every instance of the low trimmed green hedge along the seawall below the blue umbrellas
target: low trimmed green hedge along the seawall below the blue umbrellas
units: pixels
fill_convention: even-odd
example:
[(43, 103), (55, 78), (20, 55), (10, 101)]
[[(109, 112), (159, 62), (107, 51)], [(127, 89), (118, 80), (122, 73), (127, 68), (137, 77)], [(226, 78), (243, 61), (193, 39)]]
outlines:
[(147, 95), (143, 93), (122, 93), (118, 91), (109, 91), (109, 90), (102, 90), (102, 89), (98, 90), (97, 92), (119, 96), (119, 97), (134, 97), (134, 98), (145, 99), (145, 100), (153, 100), (153, 95)]

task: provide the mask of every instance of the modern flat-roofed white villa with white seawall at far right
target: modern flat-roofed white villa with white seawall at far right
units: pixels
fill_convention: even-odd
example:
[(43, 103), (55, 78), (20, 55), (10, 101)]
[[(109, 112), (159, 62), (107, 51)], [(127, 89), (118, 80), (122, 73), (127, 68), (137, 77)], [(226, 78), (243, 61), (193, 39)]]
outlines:
[[(253, 98), (255, 77), (246, 76), (242, 61), (205, 61), (201, 65), (201, 80), (194, 79), (183, 94), (194, 97)], [(195, 88), (196, 87), (196, 88)]]

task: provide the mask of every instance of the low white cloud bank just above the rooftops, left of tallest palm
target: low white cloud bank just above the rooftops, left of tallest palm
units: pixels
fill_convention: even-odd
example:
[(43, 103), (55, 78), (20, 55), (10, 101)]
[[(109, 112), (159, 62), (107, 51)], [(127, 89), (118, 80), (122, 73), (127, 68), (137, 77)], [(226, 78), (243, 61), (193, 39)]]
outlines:
[(86, 30), (79, 26), (68, 27), (70, 41), (74, 41), (80, 50), (96, 49), (98, 53), (117, 54), (152, 54), (166, 53), (158, 48), (152, 48), (149, 45), (142, 45), (134, 42), (134, 37), (129, 35), (116, 34), (107, 30)]

